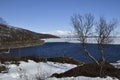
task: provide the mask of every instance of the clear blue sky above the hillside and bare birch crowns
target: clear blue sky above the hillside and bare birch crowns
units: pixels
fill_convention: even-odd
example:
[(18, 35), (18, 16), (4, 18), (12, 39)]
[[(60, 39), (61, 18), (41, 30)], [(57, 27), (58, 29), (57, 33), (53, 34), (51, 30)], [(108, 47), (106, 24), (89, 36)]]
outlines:
[(36, 32), (71, 30), (70, 17), (75, 13), (120, 21), (120, 0), (0, 0), (0, 17)]

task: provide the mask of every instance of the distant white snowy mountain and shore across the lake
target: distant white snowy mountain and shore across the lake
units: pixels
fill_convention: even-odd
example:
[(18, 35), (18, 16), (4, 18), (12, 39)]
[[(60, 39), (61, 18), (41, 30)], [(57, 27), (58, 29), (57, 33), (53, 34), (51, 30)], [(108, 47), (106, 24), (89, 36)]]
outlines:
[[(43, 32), (45, 34), (52, 34), (61, 37), (61, 39), (45, 39), (46, 42), (79, 42), (75, 37), (75, 33), (73, 31), (67, 30), (55, 30), (50, 32)], [(112, 44), (120, 44), (120, 33), (114, 34), (114, 40)], [(88, 39), (89, 43), (96, 43), (96, 39), (94, 37)]]

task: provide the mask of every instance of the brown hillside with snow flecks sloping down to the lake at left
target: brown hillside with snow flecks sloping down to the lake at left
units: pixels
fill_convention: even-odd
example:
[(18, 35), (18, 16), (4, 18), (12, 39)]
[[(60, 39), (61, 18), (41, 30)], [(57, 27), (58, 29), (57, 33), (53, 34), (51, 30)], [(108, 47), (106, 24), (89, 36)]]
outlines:
[(49, 34), (35, 33), (26, 29), (0, 24), (0, 49), (28, 47), (42, 44), (43, 38), (57, 38)]

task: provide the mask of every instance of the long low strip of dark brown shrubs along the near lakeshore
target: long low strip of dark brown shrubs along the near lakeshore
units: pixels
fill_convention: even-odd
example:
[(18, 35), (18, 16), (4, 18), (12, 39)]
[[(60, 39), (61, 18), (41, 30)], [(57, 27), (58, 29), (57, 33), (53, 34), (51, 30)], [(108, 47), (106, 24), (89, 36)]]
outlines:
[(0, 57), (1, 63), (5, 63), (6, 61), (11, 62), (11, 64), (17, 64), (19, 65), (20, 61), (25, 61), (27, 62), (28, 60), (33, 60), (35, 62), (46, 62), (46, 61), (51, 61), (51, 62), (59, 62), (59, 63), (69, 63), (69, 64), (76, 64), (79, 65), (81, 62), (78, 60), (75, 60), (73, 58), (69, 57), (53, 57), (53, 58), (44, 58), (44, 57), (37, 57), (37, 56), (23, 56), (23, 57)]

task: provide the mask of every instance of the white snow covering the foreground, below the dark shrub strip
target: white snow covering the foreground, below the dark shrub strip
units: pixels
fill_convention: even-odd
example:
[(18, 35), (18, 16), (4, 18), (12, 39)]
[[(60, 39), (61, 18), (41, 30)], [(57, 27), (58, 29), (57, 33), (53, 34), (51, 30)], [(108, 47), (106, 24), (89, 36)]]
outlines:
[(76, 67), (72, 64), (62, 64), (54, 62), (39, 62), (36, 63), (32, 60), (28, 62), (20, 62), (20, 65), (15, 64), (8, 65), (8, 73), (0, 73), (0, 80), (118, 80), (111, 77), (107, 78), (90, 78), (90, 77), (67, 77), (67, 78), (55, 78), (50, 77), (53, 73), (62, 73), (71, 68)]

